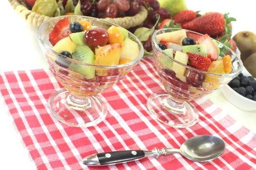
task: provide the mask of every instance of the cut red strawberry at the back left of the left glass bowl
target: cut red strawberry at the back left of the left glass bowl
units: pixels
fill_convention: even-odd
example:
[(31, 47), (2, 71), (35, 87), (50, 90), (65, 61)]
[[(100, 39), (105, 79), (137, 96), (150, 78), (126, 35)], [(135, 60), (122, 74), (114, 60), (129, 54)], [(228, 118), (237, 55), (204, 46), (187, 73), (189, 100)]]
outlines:
[(54, 46), (59, 40), (67, 37), (72, 32), (69, 29), (69, 20), (64, 18), (59, 20), (49, 34), (49, 41)]

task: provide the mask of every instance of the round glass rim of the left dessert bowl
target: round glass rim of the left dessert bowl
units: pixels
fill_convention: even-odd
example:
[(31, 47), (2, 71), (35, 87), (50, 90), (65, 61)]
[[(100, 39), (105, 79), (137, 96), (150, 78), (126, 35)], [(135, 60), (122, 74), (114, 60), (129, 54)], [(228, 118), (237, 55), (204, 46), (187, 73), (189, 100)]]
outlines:
[(124, 68), (124, 67), (128, 67), (128, 66), (132, 66), (132, 65), (135, 65), (136, 63), (138, 63), (143, 55), (144, 55), (144, 49), (143, 49), (143, 46), (141, 44), (141, 42), (139, 41), (139, 39), (134, 35), (132, 34), (130, 31), (128, 31), (128, 34), (130, 36), (132, 36), (138, 43), (138, 46), (140, 47), (141, 50), (139, 50), (139, 54), (137, 56), (136, 59), (134, 59), (132, 62), (129, 62), (129, 63), (126, 63), (126, 64), (120, 64), (120, 65), (111, 65), (111, 66), (108, 66), (108, 65), (97, 65), (97, 64), (89, 64), (89, 63), (83, 63), (81, 61), (78, 61), (78, 60), (75, 60), (75, 59), (71, 59), (71, 58), (68, 58), (64, 55), (61, 55), (59, 54), (59, 52), (56, 52), (54, 51), (51, 47), (49, 47), (46, 43), (44, 43), (44, 41), (41, 39), (41, 34), (40, 34), (40, 31), (42, 29), (42, 27), (47, 23), (47, 22), (50, 22), (52, 20), (55, 20), (56, 18), (65, 18), (65, 17), (68, 17), (68, 18), (71, 18), (71, 17), (79, 17), (79, 18), (84, 18), (84, 19), (94, 19), (94, 20), (98, 20), (100, 22), (104, 22), (104, 23), (107, 23), (109, 24), (110, 26), (111, 25), (115, 25), (117, 27), (120, 27), (118, 26), (117, 24), (114, 24), (114, 23), (111, 23), (111, 22), (108, 22), (108, 21), (105, 21), (105, 20), (102, 20), (100, 18), (95, 18), (95, 17), (88, 17), (88, 16), (77, 16), (77, 15), (74, 15), (74, 16), (59, 16), (59, 17), (52, 17), (50, 19), (47, 19), (46, 21), (42, 22), (40, 25), (39, 25), (39, 28), (38, 28), (38, 31), (37, 31), (37, 36), (38, 36), (38, 40), (39, 40), (39, 43), (48, 51), (51, 51), (52, 53), (56, 54), (56, 56), (61, 56), (61, 57), (64, 57), (66, 58), (67, 60), (71, 61), (72, 63), (76, 63), (76, 64), (79, 64), (79, 65), (83, 65), (83, 66), (90, 66), (90, 67), (96, 67), (96, 68)]

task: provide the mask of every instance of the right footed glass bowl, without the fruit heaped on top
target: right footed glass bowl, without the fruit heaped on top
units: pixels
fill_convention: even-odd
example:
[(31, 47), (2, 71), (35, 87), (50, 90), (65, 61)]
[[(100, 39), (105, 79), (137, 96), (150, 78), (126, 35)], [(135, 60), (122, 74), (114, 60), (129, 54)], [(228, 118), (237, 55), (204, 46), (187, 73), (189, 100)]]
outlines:
[[(158, 40), (156, 39), (158, 34), (177, 30), (180, 29), (161, 29), (152, 36), (154, 62), (166, 92), (152, 94), (148, 99), (147, 106), (150, 113), (164, 124), (177, 128), (186, 128), (193, 126), (198, 119), (197, 111), (189, 101), (203, 97), (223, 85), (227, 85), (241, 72), (243, 65), (236, 53), (220, 42), (217, 42), (220, 48), (220, 57), (229, 54), (232, 59), (232, 71), (230, 74), (210, 73), (178, 62), (158, 47)], [(186, 30), (186, 34), (188, 33), (202, 35)], [(185, 73), (180, 75), (173, 71), (168, 65), (171, 62), (176, 67), (185, 68)]]

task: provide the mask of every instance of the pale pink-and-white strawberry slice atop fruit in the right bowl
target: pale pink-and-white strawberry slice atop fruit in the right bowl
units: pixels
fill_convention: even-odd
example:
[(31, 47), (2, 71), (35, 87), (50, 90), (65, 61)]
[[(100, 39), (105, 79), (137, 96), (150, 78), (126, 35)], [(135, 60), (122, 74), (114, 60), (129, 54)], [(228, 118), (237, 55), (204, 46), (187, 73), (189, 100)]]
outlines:
[(217, 49), (208, 34), (204, 34), (198, 40), (199, 44), (206, 44), (207, 45), (207, 57), (211, 59), (211, 61), (215, 61), (218, 58)]

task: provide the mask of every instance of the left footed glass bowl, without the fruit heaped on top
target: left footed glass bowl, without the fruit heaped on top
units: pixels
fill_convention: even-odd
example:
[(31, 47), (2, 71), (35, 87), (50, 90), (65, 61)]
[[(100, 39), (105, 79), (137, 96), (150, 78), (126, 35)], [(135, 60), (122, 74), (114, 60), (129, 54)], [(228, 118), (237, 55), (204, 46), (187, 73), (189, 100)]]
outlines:
[[(128, 37), (138, 44), (139, 49), (138, 56), (130, 63), (103, 66), (67, 58), (52, 50), (52, 45), (48, 40), (49, 33), (55, 24), (66, 17), (70, 23), (86, 19), (93, 26), (106, 30), (114, 24), (94, 17), (60, 16), (43, 22), (38, 29), (39, 44), (49, 69), (59, 83), (65, 87), (51, 95), (48, 101), (50, 114), (70, 126), (94, 126), (105, 119), (107, 114), (106, 103), (98, 93), (115, 85), (132, 70), (143, 56), (143, 47), (138, 38), (129, 32)], [(81, 70), (95, 70), (95, 74), (88, 76)]]

